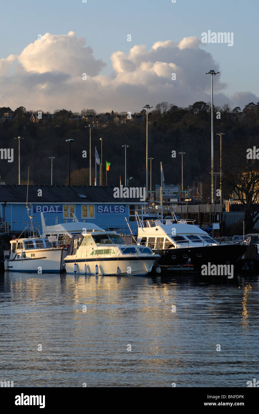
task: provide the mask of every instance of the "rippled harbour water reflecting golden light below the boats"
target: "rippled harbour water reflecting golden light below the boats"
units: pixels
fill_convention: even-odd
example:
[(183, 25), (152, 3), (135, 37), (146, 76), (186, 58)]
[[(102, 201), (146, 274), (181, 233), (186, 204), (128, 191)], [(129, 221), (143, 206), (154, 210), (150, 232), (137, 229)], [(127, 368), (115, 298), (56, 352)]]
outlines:
[(257, 276), (1, 274), (0, 380), (247, 387), (259, 380), (258, 292)]

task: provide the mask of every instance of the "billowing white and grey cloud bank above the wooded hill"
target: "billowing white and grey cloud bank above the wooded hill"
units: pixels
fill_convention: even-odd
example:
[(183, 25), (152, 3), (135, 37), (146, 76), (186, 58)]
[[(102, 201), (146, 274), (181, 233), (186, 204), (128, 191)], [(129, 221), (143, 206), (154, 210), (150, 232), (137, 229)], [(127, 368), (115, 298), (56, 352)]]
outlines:
[[(113, 73), (107, 76), (101, 74), (106, 63), (94, 58), (84, 38), (77, 38), (72, 31), (67, 35), (46, 33), (19, 56), (0, 59), (0, 106), (139, 111), (145, 102), (153, 106), (161, 101), (178, 106), (207, 102), (211, 83), (204, 72), (220, 68), (200, 45), (200, 39), (192, 36), (179, 43), (158, 41), (149, 51), (145, 45), (133, 46), (128, 55), (115, 51), (110, 57)], [(172, 80), (172, 73), (176, 80)], [(251, 92), (237, 92), (229, 98), (225, 87), (217, 75), (216, 105), (230, 103), (242, 108), (259, 101)]]

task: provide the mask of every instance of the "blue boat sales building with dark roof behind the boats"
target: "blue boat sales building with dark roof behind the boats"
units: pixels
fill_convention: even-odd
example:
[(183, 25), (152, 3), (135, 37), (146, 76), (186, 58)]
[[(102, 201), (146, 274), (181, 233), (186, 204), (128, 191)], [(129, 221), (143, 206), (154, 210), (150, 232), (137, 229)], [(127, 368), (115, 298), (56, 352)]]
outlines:
[[(26, 210), (26, 185), (0, 185), (1, 231), (22, 232), (29, 223)], [(139, 197), (115, 198), (114, 187), (29, 185), (29, 214), (42, 231), (41, 212), (46, 225), (72, 221), (72, 213), (79, 221), (93, 222), (105, 230), (128, 231), (137, 228), (135, 210), (141, 218), (145, 203)]]

